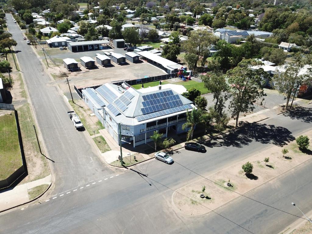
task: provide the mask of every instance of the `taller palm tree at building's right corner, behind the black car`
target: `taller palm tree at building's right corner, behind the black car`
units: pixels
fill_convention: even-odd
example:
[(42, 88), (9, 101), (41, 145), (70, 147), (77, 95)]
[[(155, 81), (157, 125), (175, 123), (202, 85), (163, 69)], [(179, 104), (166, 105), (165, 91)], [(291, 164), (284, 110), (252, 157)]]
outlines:
[(193, 132), (197, 124), (203, 123), (206, 119), (205, 113), (199, 109), (193, 109), (192, 111), (186, 112), (186, 123), (182, 125), (182, 129), (189, 128), (187, 140), (193, 139)]

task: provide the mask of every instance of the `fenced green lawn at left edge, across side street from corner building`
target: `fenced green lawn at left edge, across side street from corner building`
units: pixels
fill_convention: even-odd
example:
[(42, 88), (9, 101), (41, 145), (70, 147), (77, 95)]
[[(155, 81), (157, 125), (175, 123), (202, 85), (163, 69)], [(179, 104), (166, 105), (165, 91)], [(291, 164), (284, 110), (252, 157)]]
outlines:
[(22, 166), (15, 115), (0, 116), (0, 180), (6, 179)]

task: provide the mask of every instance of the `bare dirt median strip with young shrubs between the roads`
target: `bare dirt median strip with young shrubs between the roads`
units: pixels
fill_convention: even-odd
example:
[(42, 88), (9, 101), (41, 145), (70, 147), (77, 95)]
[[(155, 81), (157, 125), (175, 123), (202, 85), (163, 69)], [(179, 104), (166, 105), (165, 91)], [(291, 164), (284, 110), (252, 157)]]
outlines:
[[(306, 132), (305, 135), (311, 139), (312, 131)], [(281, 147), (273, 146), (231, 167), (209, 175), (206, 177), (207, 179), (203, 178), (179, 188), (173, 193), (174, 205), (184, 214), (203, 215), (311, 158), (310, 151), (308, 153), (301, 152), (295, 141), (285, 148), (289, 150), (286, 157), (283, 157)], [(265, 157), (270, 158), (267, 165), (263, 161)], [(253, 164), (253, 171), (252, 174), (246, 176), (241, 166), (247, 161)], [(226, 185), (229, 179), (233, 187)], [(193, 192), (200, 191), (204, 185), (206, 186), (205, 192), (211, 199), (200, 198), (200, 193)], [(276, 186), (281, 185), (276, 184)]]

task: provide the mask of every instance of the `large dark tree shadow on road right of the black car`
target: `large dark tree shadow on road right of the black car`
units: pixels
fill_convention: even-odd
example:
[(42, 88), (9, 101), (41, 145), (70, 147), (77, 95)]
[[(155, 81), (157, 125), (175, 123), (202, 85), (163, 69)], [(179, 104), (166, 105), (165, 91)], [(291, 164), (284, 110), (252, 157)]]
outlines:
[(224, 146), (234, 146), (238, 148), (248, 145), (252, 141), (261, 142), (262, 144), (275, 144), (281, 147), (295, 140), (295, 137), (284, 127), (255, 123), (245, 128), (232, 131), (229, 134), (218, 136), (214, 140), (219, 142), (223, 141), (222, 145)]

